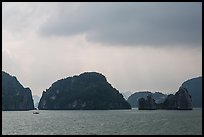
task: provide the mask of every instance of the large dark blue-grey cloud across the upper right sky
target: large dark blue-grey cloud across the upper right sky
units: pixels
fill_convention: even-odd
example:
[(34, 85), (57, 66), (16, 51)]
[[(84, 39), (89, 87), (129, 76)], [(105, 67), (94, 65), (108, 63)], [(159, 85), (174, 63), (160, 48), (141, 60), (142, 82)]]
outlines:
[(90, 41), (113, 45), (202, 43), (201, 3), (62, 3), (53, 10), (43, 35), (84, 33)]

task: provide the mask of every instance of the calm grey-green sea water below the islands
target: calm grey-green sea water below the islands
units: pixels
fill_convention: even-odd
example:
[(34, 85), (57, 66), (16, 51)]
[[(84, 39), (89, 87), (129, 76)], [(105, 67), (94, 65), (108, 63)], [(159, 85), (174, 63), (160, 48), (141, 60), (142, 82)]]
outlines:
[(202, 109), (2, 111), (2, 134), (202, 134)]

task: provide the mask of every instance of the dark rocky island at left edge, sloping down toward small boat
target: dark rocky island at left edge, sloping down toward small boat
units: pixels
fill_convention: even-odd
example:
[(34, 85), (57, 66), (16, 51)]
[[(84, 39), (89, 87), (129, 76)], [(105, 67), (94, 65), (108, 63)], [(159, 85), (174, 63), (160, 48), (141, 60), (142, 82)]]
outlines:
[(24, 88), (16, 79), (2, 71), (2, 110), (34, 109), (31, 90)]

